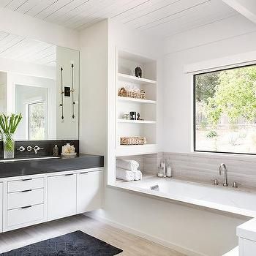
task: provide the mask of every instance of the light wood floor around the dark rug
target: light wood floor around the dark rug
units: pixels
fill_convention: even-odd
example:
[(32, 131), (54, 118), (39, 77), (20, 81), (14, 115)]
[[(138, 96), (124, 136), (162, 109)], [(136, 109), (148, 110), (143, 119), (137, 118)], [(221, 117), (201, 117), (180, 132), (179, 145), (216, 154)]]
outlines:
[(61, 236), (75, 230), (82, 230), (84, 233), (123, 249), (124, 252), (119, 254), (120, 256), (185, 256), (83, 215), (1, 233), (0, 253), (55, 236)]

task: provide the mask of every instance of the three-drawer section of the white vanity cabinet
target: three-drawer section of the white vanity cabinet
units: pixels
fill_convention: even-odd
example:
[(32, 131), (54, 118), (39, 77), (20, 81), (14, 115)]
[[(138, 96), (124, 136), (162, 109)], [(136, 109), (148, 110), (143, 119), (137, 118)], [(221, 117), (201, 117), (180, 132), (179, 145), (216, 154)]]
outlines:
[(9, 231), (45, 221), (45, 178), (26, 177), (6, 181), (3, 230)]

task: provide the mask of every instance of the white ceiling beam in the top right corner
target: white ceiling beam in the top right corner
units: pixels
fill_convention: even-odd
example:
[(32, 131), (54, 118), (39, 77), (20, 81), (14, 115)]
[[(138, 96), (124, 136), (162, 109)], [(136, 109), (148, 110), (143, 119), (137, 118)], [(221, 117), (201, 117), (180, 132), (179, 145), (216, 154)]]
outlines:
[(256, 1), (255, 0), (222, 0), (241, 15), (256, 23)]

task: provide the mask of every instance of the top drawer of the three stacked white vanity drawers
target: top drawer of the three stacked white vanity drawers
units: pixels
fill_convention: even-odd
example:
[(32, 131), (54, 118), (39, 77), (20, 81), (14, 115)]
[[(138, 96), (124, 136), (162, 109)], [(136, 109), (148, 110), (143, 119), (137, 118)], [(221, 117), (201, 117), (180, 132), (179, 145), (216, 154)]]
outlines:
[(44, 178), (24, 178), (19, 181), (8, 182), (8, 193), (44, 187)]

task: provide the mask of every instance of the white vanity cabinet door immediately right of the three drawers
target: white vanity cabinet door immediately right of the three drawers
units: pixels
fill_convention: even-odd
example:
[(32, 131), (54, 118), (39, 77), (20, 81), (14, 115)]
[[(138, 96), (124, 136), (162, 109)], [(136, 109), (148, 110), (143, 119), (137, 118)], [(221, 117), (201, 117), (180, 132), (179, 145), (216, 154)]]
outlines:
[(76, 175), (48, 177), (48, 220), (76, 214)]

